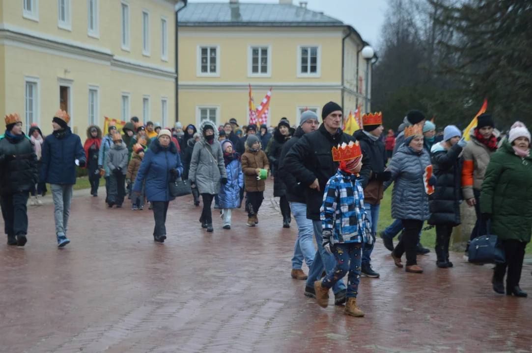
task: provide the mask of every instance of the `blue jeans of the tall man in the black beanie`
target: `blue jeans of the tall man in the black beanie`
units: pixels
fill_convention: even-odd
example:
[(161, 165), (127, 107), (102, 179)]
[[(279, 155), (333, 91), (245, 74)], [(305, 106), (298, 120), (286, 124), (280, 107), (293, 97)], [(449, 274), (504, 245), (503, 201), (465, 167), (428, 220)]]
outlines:
[[(314, 227), (314, 237), (316, 238), (316, 243), (318, 243), (318, 251), (314, 256), (314, 261), (309, 270), (309, 278), (306, 280), (306, 286), (314, 288), (314, 282), (320, 280), (321, 273), (323, 272), (323, 266), (325, 266), (325, 271), (331, 273), (334, 270), (336, 265), (336, 260), (334, 255), (329, 254), (327, 250), (323, 247), (323, 228), (321, 226), (321, 221), (312, 221), (312, 226)], [(344, 290), (345, 285), (344, 281), (341, 279), (332, 286), (332, 291), (337, 294), (339, 291)]]

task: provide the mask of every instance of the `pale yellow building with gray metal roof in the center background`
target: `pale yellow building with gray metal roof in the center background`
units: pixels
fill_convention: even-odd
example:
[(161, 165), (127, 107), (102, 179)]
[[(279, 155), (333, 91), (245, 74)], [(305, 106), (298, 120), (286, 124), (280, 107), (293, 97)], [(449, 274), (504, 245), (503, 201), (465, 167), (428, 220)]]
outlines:
[[(247, 123), (248, 83), (258, 105), (272, 88), (269, 125), (297, 125), (328, 101), (365, 109), (367, 45), (350, 25), (302, 2), (189, 3), (178, 15), (179, 121)], [(361, 81), (362, 80), (362, 81)]]

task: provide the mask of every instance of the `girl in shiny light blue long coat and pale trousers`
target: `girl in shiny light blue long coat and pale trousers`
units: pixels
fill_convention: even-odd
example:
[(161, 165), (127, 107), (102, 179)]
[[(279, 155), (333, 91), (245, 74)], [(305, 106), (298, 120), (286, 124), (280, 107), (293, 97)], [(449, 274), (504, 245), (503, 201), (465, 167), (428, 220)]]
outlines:
[(220, 184), (218, 198), (222, 209), (223, 229), (231, 229), (231, 211), (240, 205), (240, 189), (244, 187), (244, 173), (240, 154), (233, 149), (229, 140), (221, 142), (223, 162), (226, 165), (227, 184)]

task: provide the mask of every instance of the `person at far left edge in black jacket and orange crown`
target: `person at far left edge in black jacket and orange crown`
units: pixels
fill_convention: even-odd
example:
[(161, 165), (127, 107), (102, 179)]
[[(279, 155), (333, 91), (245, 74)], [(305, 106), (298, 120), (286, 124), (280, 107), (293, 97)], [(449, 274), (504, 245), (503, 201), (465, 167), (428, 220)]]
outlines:
[(0, 136), (0, 204), (7, 245), (24, 246), (28, 234), (28, 195), (37, 184), (37, 155), (22, 132), (19, 114), (5, 117), (6, 132)]

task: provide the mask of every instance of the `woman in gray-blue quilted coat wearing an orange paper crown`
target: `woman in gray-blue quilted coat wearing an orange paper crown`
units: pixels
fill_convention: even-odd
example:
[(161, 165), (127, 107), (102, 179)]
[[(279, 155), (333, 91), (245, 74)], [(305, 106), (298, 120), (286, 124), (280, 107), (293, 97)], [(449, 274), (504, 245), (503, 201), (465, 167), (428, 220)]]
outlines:
[[(403, 222), (403, 238), (397, 244), (392, 257), (395, 265), (403, 267), (401, 256), (406, 253), (406, 272), (421, 273), (416, 261), (416, 245), (423, 221), (428, 220), (428, 195), (425, 191), (425, 168), (430, 165), (430, 155), (423, 148), (423, 131), (421, 126), (410, 126), (405, 129), (404, 144), (397, 149), (389, 169), (392, 178), (384, 183), (384, 190), (394, 183), (392, 193), (392, 218)], [(429, 180), (430, 185), (436, 183), (436, 177)]]

